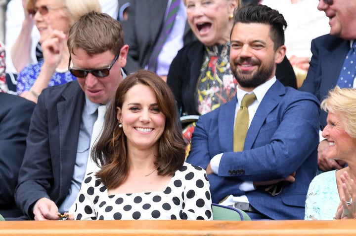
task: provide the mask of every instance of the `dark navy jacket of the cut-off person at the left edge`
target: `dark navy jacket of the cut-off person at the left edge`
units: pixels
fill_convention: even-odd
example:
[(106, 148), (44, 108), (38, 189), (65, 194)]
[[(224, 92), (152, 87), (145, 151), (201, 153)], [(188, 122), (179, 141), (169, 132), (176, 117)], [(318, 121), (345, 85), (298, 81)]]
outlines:
[(18, 217), (22, 214), (15, 204), (14, 191), (35, 103), (0, 93), (0, 104), (0, 214)]

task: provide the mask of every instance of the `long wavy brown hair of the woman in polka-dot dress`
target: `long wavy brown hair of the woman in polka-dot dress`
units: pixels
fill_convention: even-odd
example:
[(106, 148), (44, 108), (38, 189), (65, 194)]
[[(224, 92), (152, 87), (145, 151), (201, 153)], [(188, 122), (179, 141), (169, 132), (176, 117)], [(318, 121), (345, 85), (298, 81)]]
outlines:
[(116, 91), (106, 113), (104, 130), (91, 152), (92, 159), (101, 170), (96, 177), (107, 188), (122, 184), (129, 172), (127, 140), (117, 120), (117, 107), (122, 110), (127, 92), (137, 84), (150, 87), (156, 96), (158, 107), (166, 117), (165, 129), (158, 140), (159, 147), (154, 164), (159, 175), (172, 175), (182, 167), (185, 159), (185, 142), (179, 127), (176, 100), (166, 82), (154, 72), (138, 70), (127, 76)]

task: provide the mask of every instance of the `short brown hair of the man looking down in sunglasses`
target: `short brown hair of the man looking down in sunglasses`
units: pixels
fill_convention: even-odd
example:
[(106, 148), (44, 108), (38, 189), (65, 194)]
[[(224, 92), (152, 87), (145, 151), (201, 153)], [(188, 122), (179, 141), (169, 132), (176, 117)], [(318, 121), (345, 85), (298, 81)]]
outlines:
[(78, 48), (89, 56), (111, 51), (120, 53), (124, 46), (124, 30), (116, 19), (106, 13), (89, 12), (71, 27), (67, 41), (70, 53)]

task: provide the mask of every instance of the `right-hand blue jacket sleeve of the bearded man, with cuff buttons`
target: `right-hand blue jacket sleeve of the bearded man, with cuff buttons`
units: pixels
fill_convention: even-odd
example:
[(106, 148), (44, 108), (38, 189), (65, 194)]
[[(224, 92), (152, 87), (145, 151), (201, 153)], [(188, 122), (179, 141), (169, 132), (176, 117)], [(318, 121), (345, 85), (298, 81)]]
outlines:
[(252, 149), (223, 153), (220, 176), (231, 176), (231, 169), (244, 169), (236, 175), (243, 181), (285, 178), (312, 156), (319, 142), (319, 104), (309, 93), (298, 96), (281, 105), (278, 118), (270, 116), (264, 121)]

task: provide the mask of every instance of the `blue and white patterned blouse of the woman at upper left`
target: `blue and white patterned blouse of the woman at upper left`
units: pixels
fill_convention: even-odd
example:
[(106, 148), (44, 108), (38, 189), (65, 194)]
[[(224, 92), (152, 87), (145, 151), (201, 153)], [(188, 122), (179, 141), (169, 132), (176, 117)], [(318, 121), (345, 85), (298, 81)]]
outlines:
[[(20, 95), (24, 91), (29, 91), (34, 85), (37, 77), (40, 74), (41, 68), (44, 64), (44, 61), (41, 60), (37, 64), (29, 65), (19, 73), (17, 77), (16, 91)], [(55, 72), (49, 81), (48, 87), (54, 85), (65, 84), (69, 81), (76, 80), (77, 77), (73, 76), (69, 71), (64, 73)]]

